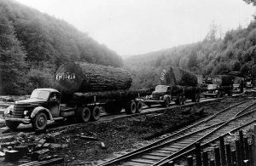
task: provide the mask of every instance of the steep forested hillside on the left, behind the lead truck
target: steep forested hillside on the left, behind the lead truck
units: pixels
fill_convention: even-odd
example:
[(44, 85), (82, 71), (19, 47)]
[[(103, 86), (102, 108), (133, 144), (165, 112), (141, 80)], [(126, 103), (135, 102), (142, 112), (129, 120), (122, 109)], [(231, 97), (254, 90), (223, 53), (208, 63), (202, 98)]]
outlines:
[(123, 66), (113, 50), (64, 20), (13, 0), (0, 1), (0, 94), (54, 87), (54, 73), (67, 61)]

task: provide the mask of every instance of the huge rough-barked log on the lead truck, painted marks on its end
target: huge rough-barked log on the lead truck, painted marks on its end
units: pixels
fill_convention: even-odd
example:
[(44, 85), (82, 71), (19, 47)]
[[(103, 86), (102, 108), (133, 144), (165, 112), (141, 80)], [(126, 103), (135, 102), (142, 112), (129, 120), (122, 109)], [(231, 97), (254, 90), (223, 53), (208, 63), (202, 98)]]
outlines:
[(130, 89), (131, 75), (121, 68), (70, 62), (60, 66), (55, 87), (65, 94)]

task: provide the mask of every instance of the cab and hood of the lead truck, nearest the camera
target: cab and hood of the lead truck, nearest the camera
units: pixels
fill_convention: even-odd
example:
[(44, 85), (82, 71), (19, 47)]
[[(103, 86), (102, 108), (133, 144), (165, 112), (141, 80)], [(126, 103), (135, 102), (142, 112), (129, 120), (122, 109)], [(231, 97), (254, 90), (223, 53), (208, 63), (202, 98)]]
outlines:
[(47, 120), (60, 117), (60, 92), (56, 89), (35, 89), (27, 100), (17, 100), (4, 112), (6, 125), (16, 129), (20, 123), (32, 123), (34, 129), (44, 129)]

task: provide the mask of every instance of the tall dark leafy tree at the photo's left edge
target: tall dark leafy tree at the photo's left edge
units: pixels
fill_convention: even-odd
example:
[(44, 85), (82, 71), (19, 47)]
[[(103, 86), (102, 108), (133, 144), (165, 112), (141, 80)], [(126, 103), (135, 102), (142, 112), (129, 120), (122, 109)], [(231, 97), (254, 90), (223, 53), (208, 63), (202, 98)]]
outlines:
[(14, 26), (0, 14), (0, 94), (22, 93), (19, 89), (24, 80), (26, 53), (15, 37)]

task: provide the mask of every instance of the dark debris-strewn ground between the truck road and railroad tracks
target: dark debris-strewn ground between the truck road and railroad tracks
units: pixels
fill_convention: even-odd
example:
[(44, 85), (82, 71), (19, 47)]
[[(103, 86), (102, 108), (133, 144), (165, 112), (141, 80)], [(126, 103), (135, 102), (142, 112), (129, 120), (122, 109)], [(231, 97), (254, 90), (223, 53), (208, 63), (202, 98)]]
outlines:
[[(162, 135), (172, 133), (185, 125), (195, 123), (227, 106), (246, 99), (247, 97), (226, 97), (220, 101), (200, 103), (197, 106), (190, 106), (190, 108), (177, 107), (154, 114), (126, 117), (104, 123), (78, 124), (66, 129), (57, 129), (48, 135), (26, 135), (26, 137), (15, 135), (15, 137), (4, 141), (20, 139), (22, 145), (27, 145), (32, 142), (38, 143), (38, 140), (48, 137), (51, 138), (47, 140), (48, 142), (67, 144), (68, 147), (50, 149), (45, 156), (65, 157), (69, 165), (79, 163), (91, 165), (101, 163), (103, 159), (116, 154), (145, 146), (160, 139)], [(204, 113), (198, 113), (201, 108)], [(54, 134), (55, 136), (52, 136)], [(80, 135), (94, 137), (97, 140), (85, 140)], [(102, 143), (106, 147), (102, 147)], [(2, 163), (0, 161), (1, 165)], [(3, 164), (9, 165), (9, 163)]]

